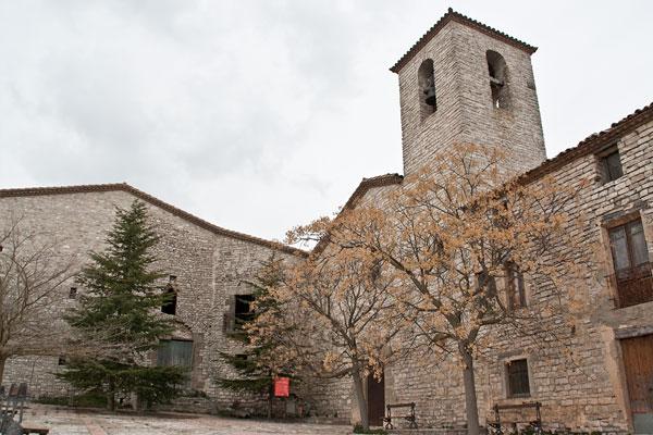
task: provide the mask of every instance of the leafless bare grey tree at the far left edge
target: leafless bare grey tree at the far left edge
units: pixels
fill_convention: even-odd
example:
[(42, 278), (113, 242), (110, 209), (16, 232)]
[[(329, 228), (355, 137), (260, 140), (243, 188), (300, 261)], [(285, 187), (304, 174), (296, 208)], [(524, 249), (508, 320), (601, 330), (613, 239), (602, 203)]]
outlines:
[(65, 323), (57, 310), (63, 285), (74, 276), (71, 256), (52, 234), (10, 216), (0, 228), (0, 382), (11, 357), (58, 355)]

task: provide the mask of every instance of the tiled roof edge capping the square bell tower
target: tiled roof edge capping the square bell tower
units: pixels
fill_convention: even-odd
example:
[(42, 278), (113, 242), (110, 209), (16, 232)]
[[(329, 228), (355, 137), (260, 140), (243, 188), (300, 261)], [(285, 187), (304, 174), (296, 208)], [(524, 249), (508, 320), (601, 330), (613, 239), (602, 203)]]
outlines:
[(455, 21), (456, 23), (460, 23), (460, 24), (469, 26), (476, 30), (482, 32), (488, 36), (496, 38), (503, 42), (509, 44), (510, 46), (517, 47), (518, 49), (521, 49), (529, 54), (532, 54), (538, 50), (537, 47), (528, 45), (517, 38), (514, 38), (507, 34), (504, 34), (501, 30), (497, 30), (494, 27), (490, 27), (486, 24), (483, 24), (481, 22), (472, 20), (469, 16), (463, 15), (461, 13), (458, 13), (458, 12), (454, 11), (452, 8), (449, 8), (448, 11), (438, 21), (438, 23), (435, 23), (429, 29), (429, 32), (427, 32), (421, 38), (419, 38), (419, 40), (417, 42), (415, 42), (415, 45), (412, 47), (410, 47), (410, 50), (408, 50), (406, 52), (406, 54), (404, 54), (402, 57), (402, 59), (399, 59), (390, 69), (390, 71), (392, 71), (393, 73), (398, 73), (399, 70), (402, 67), (404, 67), (404, 65), (406, 65), (410, 61), (410, 59), (412, 59), (415, 57), (415, 54), (417, 54), (417, 52), (419, 50), (421, 50), (422, 47), (424, 47), (427, 45), (427, 42), (429, 42), (431, 40), (431, 38), (433, 38), (435, 35), (438, 35), (440, 33), (440, 30), (442, 30), (442, 28), (444, 28), (444, 26), (449, 21)]

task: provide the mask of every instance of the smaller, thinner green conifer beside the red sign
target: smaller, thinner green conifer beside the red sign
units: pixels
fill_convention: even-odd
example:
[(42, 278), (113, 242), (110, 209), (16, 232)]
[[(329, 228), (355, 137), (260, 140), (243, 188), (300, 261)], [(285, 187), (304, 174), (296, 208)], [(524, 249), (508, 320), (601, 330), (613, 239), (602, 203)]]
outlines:
[(268, 289), (280, 284), (282, 279), (281, 260), (272, 256), (262, 263), (262, 268), (254, 281), (247, 281), (251, 286), (256, 309), (247, 320), (236, 320), (235, 333), (231, 334), (233, 339), (242, 343), (244, 351), (237, 355), (220, 352), (220, 357), (236, 373), (235, 377), (218, 377), (217, 384), (222, 388), (249, 393), (254, 395), (266, 395), (268, 398), (268, 418), (272, 414), (272, 400), (274, 398), (274, 377), (292, 374), (291, 368), (279, 368), (272, 365), (268, 358), (274, 352), (276, 344), (272, 340), (257, 343), (254, 346), (247, 333), (248, 325), (251, 324), (258, 315), (278, 309), (276, 303), (268, 296)]

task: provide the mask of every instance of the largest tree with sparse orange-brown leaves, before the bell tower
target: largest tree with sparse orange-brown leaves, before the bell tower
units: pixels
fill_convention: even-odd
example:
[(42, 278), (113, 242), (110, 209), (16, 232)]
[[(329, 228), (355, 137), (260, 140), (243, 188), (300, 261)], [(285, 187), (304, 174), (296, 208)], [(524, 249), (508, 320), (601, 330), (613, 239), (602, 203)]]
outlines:
[[(389, 288), (399, 319), (386, 318), (386, 327), (410, 323), (411, 343), (431, 353), (422, 355), (458, 363), (473, 435), (477, 358), (502, 332), (533, 340), (568, 332), (572, 300), (562, 285), (578, 288), (587, 270), (575, 249), (581, 232), (567, 213), (582, 183), (508, 179), (506, 158), (490, 147), (454, 146), (375, 201), (294, 231), (361, 263), (381, 260), (383, 273), (402, 283)], [(537, 294), (528, 307), (525, 281)]]

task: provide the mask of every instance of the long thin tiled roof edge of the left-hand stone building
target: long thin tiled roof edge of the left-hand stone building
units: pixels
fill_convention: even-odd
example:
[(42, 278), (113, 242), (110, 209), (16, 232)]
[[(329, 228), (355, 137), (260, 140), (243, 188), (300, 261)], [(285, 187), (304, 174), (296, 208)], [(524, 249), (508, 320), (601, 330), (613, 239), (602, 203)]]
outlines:
[(210, 222), (207, 222), (200, 217), (197, 217), (194, 214), (190, 214), (184, 210), (177, 209), (174, 206), (169, 204), (158, 198), (152, 197), (141, 190), (138, 190), (135, 187), (130, 186), (126, 183), (115, 183), (115, 184), (94, 184), (94, 185), (82, 185), (82, 186), (61, 186), (61, 187), (32, 187), (32, 188), (19, 188), (19, 189), (0, 189), (0, 198), (9, 198), (9, 197), (29, 197), (29, 196), (46, 196), (46, 195), (66, 195), (66, 194), (86, 194), (86, 192), (98, 192), (98, 191), (126, 191), (138, 199), (141, 199), (150, 204), (158, 207), (162, 210), (165, 210), (175, 216), (184, 219), (190, 222), (194, 225), (197, 225), (204, 229), (207, 229), (213, 234), (218, 234), (221, 236), (226, 236), (231, 238), (235, 238), (243, 241), (248, 241), (251, 244), (264, 246), (271, 249), (276, 249), (280, 251), (284, 251), (294, 256), (305, 257), (308, 252), (289, 247), (287, 245), (283, 245), (272, 240), (266, 240), (263, 238), (250, 236), (248, 234), (243, 234), (238, 232), (234, 232), (231, 229), (222, 228), (218, 225), (213, 225)]

